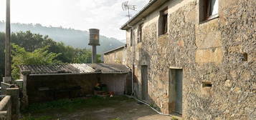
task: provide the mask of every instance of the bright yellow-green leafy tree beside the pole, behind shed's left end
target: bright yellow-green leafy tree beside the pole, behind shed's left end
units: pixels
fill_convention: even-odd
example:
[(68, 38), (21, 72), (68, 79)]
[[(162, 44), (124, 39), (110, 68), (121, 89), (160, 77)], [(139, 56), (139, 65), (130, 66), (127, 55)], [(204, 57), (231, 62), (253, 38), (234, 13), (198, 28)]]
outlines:
[(12, 78), (19, 79), (20, 65), (37, 65), (37, 64), (60, 64), (56, 58), (60, 54), (48, 52), (49, 46), (44, 46), (41, 49), (36, 49), (32, 52), (26, 51), (23, 47), (16, 44), (12, 45)]

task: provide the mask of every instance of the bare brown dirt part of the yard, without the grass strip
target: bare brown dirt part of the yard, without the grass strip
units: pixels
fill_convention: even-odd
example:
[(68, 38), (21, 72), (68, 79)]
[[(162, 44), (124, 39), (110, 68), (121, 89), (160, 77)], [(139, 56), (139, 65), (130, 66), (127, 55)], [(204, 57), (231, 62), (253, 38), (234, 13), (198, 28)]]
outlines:
[(76, 113), (61, 117), (60, 120), (171, 120), (171, 116), (157, 114), (144, 104), (136, 101), (120, 101), (106, 108), (81, 109)]

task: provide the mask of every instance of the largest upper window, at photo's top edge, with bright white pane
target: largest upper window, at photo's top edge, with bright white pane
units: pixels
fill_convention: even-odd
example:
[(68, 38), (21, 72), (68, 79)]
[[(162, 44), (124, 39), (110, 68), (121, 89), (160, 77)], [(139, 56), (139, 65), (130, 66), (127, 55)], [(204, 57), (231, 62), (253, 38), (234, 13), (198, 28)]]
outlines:
[(219, 0), (199, 1), (199, 21), (207, 21), (218, 16)]

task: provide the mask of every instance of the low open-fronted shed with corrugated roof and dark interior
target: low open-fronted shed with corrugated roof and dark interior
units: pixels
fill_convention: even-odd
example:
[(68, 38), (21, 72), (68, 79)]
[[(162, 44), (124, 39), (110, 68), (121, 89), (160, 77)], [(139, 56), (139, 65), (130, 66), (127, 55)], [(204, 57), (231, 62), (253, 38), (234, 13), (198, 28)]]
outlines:
[(23, 79), (22, 103), (69, 99), (94, 94), (97, 83), (106, 84), (117, 95), (128, 92), (130, 71), (120, 64), (63, 64), (20, 66)]

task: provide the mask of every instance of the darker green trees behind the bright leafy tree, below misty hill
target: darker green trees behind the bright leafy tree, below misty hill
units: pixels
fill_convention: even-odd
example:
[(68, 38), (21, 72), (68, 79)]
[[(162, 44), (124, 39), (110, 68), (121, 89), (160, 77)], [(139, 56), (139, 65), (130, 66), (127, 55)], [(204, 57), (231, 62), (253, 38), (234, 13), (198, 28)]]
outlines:
[[(4, 39), (5, 34), (0, 32), (0, 77), (4, 76)], [(33, 52), (37, 49), (47, 47), (47, 53), (57, 54), (54, 60), (62, 61), (62, 63), (82, 64), (92, 62), (92, 54), (89, 49), (76, 49), (72, 46), (66, 46), (62, 42), (50, 39), (49, 36), (32, 34), (30, 31), (12, 33), (11, 42), (16, 44), (16, 46), (22, 47), (24, 49), (24, 53)], [(97, 56), (98, 62), (101, 62), (100, 55)]]

